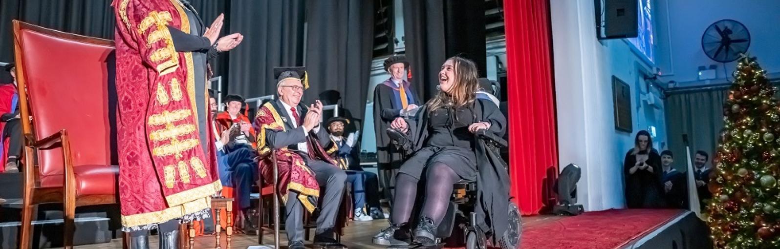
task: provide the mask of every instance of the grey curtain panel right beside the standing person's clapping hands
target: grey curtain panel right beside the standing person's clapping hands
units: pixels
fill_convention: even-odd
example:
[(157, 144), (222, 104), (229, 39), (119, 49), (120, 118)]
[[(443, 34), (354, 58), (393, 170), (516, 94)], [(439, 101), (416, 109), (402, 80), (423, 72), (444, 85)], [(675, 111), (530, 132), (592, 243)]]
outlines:
[(303, 0), (241, 0), (230, 7), (229, 30), (244, 40), (229, 53), (229, 93), (276, 94), (273, 68), (303, 65)]

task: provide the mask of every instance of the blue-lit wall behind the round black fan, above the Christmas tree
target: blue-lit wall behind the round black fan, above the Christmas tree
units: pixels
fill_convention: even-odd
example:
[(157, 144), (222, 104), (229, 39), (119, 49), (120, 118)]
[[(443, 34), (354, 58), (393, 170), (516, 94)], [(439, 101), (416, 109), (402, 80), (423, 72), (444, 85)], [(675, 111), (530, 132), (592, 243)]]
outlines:
[(657, 10), (658, 67), (663, 80), (675, 80), (680, 86), (706, 84), (698, 82), (698, 67), (718, 66), (718, 80), (736, 68), (735, 62), (713, 61), (701, 49), (701, 36), (707, 26), (720, 19), (734, 19), (750, 31), (751, 56), (757, 56), (769, 73), (780, 72), (780, 1), (777, 0), (655, 0)]

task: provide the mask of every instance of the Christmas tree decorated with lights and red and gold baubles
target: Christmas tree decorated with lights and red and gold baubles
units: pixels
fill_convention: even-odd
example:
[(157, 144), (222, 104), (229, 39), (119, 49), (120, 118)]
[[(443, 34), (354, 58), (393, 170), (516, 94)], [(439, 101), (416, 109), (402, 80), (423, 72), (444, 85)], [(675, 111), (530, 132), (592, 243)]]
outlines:
[(718, 248), (780, 248), (780, 107), (755, 58), (739, 59), (715, 153), (707, 223)]

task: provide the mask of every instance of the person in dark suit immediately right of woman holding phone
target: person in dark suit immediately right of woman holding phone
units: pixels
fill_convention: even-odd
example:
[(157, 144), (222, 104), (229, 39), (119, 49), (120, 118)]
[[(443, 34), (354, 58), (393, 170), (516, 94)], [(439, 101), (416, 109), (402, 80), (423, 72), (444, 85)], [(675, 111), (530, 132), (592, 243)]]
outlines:
[(661, 169), (663, 170), (661, 184), (664, 185), (664, 199), (669, 208), (686, 209), (688, 207), (686, 177), (685, 174), (672, 167), (674, 161), (674, 155), (671, 151), (661, 152)]

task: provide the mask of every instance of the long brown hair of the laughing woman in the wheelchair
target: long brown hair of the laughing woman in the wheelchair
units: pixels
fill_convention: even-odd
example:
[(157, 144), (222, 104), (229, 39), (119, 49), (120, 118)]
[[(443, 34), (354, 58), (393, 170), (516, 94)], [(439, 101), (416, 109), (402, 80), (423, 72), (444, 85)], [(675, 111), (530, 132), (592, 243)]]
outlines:
[(477, 65), (474, 61), (459, 56), (453, 56), (447, 61), (452, 60), (453, 74), (455, 82), (449, 93), (441, 89), (433, 99), (428, 100), (428, 110), (433, 111), (438, 108), (451, 105), (452, 107), (463, 107), (472, 103), (477, 98), (477, 89), (480, 86), (477, 73)]

